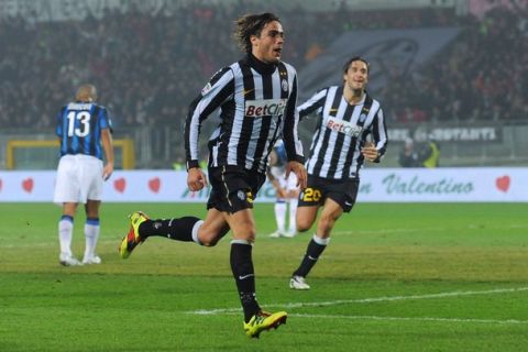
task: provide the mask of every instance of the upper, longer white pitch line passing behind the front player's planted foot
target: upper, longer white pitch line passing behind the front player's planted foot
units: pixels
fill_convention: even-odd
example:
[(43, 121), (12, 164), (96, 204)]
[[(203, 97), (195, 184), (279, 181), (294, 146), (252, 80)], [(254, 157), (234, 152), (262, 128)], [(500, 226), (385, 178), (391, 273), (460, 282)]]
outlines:
[[(286, 304), (268, 304), (270, 307), (284, 307), (284, 308), (302, 308), (302, 307), (328, 307), (349, 304), (370, 304), (378, 301), (395, 301), (395, 300), (411, 300), (411, 299), (431, 299), (431, 298), (447, 298), (447, 297), (461, 297), (461, 296), (476, 296), (476, 295), (495, 295), (495, 294), (508, 294), (526, 292), (528, 287), (516, 288), (496, 288), (488, 290), (466, 290), (466, 292), (452, 292), (452, 293), (439, 293), (429, 295), (411, 295), (411, 296), (383, 296), (361, 299), (338, 299), (329, 301), (309, 301), (309, 302), (286, 302)], [(191, 315), (217, 315), (217, 314), (230, 314), (240, 311), (241, 308), (218, 308), (218, 309), (198, 309), (187, 311)]]

